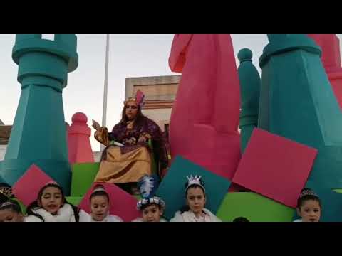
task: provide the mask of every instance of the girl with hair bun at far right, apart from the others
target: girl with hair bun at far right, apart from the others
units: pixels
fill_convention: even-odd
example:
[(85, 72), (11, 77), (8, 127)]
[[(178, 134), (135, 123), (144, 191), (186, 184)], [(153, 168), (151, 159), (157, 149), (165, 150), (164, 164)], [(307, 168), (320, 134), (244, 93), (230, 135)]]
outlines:
[(294, 222), (318, 222), (321, 211), (321, 199), (310, 188), (303, 188), (297, 202), (297, 214), (301, 219)]

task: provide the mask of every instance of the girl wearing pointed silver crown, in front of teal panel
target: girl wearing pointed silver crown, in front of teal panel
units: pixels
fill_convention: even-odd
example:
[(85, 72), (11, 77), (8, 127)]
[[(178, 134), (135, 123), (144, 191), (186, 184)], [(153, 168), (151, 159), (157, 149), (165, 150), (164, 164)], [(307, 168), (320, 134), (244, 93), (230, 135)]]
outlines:
[(206, 202), (204, 182), (201, 176), (187, 177), (185, 198), (187, 206), (175, 213), (171, 222), (221, 222), (213, 213), (204, 208)]

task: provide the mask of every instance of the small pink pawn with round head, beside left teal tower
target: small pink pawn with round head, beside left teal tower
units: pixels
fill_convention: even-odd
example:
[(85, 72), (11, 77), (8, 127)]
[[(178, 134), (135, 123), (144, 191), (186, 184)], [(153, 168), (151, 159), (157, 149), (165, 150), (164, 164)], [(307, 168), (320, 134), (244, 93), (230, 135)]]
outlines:
[(90, 145), (91, 129), (87, 125), (86, 114), (73, 114), (72, 124), (68, 127), (68, 154), (71, 164), (93, 163), (93, 150)]

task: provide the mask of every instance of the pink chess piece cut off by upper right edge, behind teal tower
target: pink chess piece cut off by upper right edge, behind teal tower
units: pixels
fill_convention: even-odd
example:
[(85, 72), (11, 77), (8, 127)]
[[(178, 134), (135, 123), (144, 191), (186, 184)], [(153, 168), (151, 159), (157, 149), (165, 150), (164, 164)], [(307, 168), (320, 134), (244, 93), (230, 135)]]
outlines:
[(342, 67), (340, 40), (336, 34), (309, 34), (322, 48), (322, 63), (326, 69), (331, 87), (342, 108)]

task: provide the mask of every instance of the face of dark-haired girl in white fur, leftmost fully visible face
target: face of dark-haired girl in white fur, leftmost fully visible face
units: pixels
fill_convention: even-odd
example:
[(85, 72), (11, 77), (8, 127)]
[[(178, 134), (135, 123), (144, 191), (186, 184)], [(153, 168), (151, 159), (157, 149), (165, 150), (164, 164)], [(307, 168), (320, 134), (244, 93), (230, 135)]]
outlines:
[(56, 215), (63, 203), (62, 193), (59, 188), (48, 187), (44, 189), (40, 202), (41, 208), (52, 215)]

